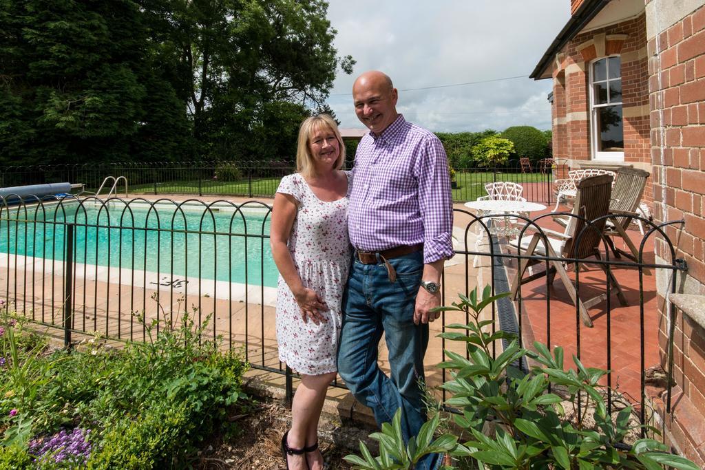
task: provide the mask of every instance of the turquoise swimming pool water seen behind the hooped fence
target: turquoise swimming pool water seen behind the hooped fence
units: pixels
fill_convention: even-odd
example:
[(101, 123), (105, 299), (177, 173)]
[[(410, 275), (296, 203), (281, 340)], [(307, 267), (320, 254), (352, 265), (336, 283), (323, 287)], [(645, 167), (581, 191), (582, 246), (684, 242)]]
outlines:
[(67, 204), (66, 214), (51, 209), (47, 216), (4, 211), (0, 252), (63, 261), (64, 223), (71, 222), (76, 263), (159, 273), (162, 285), (188, 276), (276, 287), (266, 211), (246, 211), (243, 220), (232, 208), (204, 214), (202, 207), (176, 211), (169, 204), (152, 211), (77, 207)]

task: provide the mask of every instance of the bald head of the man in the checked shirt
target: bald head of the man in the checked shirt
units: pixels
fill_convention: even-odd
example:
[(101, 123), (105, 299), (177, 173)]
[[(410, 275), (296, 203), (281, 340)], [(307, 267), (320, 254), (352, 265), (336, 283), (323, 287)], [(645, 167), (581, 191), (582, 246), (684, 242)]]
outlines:
[(391, 78), (379, 70), (363, 73), (353, 84), (355, 114), (375, 135), (384, 132), (396, 120), (397, 98)]

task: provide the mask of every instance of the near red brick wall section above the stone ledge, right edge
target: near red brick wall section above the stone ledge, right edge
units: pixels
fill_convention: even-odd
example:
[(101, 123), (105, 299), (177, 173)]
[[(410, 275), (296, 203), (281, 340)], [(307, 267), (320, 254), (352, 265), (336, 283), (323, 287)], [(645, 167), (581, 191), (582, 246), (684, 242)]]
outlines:
[[(672, 227), (667, 235), (680, 237), (689, 276), (705, 285), (705, 8), (661, 32), (658, 41), (659, 54), (656, 38), (648, 44), (654, 198), (663, 202), (654, 218), (685, 219), (682, 233)], [(670, 258), (665, 247), (658, 249)]]

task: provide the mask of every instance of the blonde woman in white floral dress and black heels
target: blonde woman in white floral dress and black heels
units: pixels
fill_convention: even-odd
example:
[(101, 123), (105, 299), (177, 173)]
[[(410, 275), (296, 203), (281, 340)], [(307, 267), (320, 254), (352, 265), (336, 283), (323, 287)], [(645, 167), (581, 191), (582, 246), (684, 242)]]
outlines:
[(299, 130), (296, 170), (274, 197), (270, 243), (279, 270), (276, 338), (279, 360), (301, 375), (292, 423), (281, 450), (288, 469), (323, 468), (318, 421), (336, 377), (341, 299), (348, 278), (350, 173), (341, 171), (345, 146), (327, 114)]

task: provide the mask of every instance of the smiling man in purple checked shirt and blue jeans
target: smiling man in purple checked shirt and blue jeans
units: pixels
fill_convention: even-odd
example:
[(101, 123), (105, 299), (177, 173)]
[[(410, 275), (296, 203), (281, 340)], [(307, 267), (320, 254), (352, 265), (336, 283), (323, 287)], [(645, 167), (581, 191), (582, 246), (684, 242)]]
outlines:
[[(379, 71), (353, 85), (357, 118), (369, 128), (357, 147), (348, 208), (355, 248), (343, 295), (338, 372), (377, 424), (402, 409), (405, 440), (426, 412), (420, 385), (431, 309), (441, 304), (443, 261), (453, 256), (453, 206), (446, 152), (431, 132), (396, 111), (398, 92)], [(377, 366), (384, 333), (391, 377)], [(431, 454), (419, 469), (436, 469)]]

